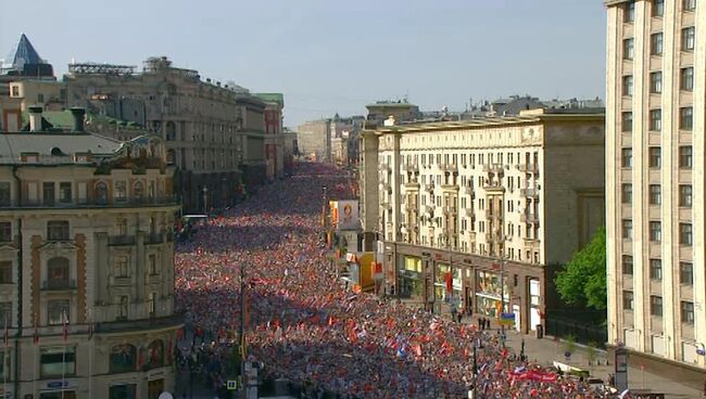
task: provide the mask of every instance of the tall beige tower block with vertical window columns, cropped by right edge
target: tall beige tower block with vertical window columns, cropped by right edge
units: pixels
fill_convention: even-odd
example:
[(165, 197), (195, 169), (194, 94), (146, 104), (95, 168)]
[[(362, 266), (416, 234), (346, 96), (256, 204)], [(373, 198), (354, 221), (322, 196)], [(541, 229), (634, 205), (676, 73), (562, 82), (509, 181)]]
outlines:
[(701, 388), (706, 2), (606, 5), (608, 339)]

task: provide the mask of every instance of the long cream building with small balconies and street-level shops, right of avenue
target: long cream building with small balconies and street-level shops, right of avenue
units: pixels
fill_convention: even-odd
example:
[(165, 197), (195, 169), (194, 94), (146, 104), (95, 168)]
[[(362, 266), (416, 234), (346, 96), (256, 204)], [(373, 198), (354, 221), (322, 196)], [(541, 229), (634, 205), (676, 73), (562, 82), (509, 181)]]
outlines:
[(364, 249), (377, 234), (388, 292), (489, 317), (503, 297), (519, 331), (543, 324), (546, 267), (604, 222), (603, 142), (602, 113), (558, 110), (365, 130)]

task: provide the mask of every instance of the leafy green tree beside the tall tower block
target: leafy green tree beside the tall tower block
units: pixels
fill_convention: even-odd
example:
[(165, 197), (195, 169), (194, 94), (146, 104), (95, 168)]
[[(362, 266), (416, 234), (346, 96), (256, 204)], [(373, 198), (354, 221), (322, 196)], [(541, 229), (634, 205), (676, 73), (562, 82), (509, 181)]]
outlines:
[(605, 228), (573, 254), (557, 273), (555, 283), (562, 300), (568, 305), (606, 309)]

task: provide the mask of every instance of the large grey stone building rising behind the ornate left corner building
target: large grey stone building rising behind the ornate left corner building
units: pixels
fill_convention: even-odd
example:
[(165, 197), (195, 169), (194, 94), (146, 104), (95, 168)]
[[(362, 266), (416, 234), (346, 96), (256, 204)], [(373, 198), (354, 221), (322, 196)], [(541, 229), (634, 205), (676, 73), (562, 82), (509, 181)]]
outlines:
[(175, 186), (186, 210), (232, 204), (241, 183), (265, 180), (264, 102), (238, 86), (204, 81), (166, 57), (151, 57), (141, 73), (135, 69), (70, 65), (67, 104), (162, 136), (178, 167)]

